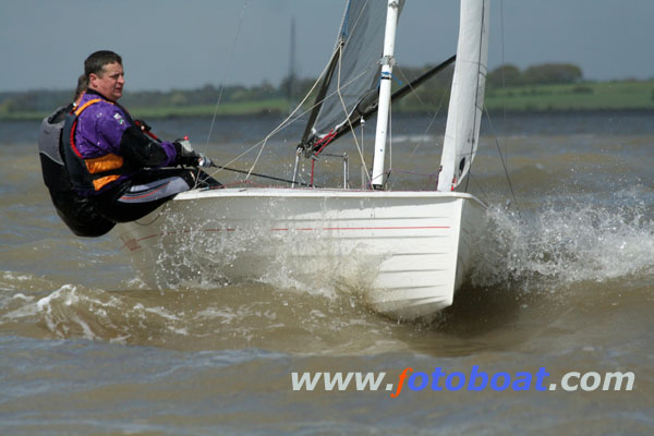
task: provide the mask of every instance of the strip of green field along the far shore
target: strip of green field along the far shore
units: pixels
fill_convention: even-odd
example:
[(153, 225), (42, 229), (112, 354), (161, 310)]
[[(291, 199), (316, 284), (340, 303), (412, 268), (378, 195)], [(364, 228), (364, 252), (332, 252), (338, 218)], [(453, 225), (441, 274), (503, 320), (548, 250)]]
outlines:
[[(485, 106), (489, 111), (584, 111), (584, 110), (654, 110), (654, 80), (583, 82), (564, 85), (530, 85), (486, 89)], [(396, 110), (398, 107), (396, 107)], [(425, 106), (419, 110), (432, 111)], [(289, 104), (283, 98), (223, 102), (216, 108), (205, 106), (156, 106), (132, 105), (135, 117), (147, 119), (167, 117), (211, 117), (286, 114)], [(12, 111), (0, 112), (4, 120), (43, 119), (47, 112)]]

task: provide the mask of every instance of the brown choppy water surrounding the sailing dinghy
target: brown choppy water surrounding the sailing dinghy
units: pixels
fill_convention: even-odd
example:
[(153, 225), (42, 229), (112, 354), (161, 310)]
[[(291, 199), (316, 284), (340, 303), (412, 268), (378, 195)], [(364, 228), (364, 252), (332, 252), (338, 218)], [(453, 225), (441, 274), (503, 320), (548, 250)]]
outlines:
[[(509, 190), (486, 135), (470, 184), (492, 204), (476, 267), (455, 305), (422, 324), (372, 313), (351, 287), (287, 282), (283, 271), (148, 289), (111, 233), (77, 239), (55, 215), (38, 123), (0, 123), (0, 434), (652, 434), (653, 117), (496, 120), (517, 202), (505, 208)], [(437, 160), (427, 143), (416, 148), (438, 141), (425, 135), (428, 121), (395, 122), (396, 186), (428, 186)], [(199, 144), (209, 122), (153, 124)], [(274, 122), (219, 122), (207, 149), (227, 161)], [(288, 174), (280, 150), (290, 157), (295, 133), (271, 141), (257, 169)], [(291, 385), (292, 372), (385, 372), (397, 384), (405, 367), (473, 365), (545, 367), (552, 380), (630, 371), (635, 383), (569, 392), (405, 386), (398, 398)]]

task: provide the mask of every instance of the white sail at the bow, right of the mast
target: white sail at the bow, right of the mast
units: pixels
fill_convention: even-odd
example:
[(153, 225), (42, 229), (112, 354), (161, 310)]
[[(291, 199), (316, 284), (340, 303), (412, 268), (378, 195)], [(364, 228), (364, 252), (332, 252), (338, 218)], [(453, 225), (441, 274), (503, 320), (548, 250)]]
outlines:
[(489, 0), (461, 0), (457, 64), (438, 191), (457, 187), (470, 170), (477, 149), (487, 72), (489, 11)]

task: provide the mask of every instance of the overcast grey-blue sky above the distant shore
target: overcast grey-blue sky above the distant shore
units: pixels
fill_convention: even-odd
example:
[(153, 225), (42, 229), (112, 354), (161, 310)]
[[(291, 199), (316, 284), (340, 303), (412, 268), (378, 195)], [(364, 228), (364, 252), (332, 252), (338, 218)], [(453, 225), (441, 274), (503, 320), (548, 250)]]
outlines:
[[(396, 46), (400, 65), (436, 63), (455, 52), (458, 3), (407, 0)], [(327, 62), (343, 5), (342, 0), (0, 0), (0, 90), (72, 88), (84, 59), (98, 49), (122, 55), (128, 90), (265, 80), (277, 85), (289, 72), (291, 17), (296, 72), (315, 76)], [(571, 62), (586, 78), (650, 78), (653, 41), (654, 0), (493, 0), (488, 62), (491, 69), (502, 58), (520, 68)]]

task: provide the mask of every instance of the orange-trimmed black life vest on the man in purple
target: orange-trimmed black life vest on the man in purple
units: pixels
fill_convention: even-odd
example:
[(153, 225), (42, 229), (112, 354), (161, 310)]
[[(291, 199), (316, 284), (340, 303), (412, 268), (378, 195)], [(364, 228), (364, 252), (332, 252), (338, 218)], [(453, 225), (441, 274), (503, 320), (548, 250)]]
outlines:
[(99, 101), (113, 105), (111, 101), (101, 98), (88, 100), (69, 113), (63, 125), (62, 144), (65, 164), (71, 183), (76, 191), (82, 193), (98, 192), (125, 173), (124, 160), (121, 156), (109, 153), (100, 157), (84, 158), (75, 145), (75, 131), (80, 114), (89, 106)]

